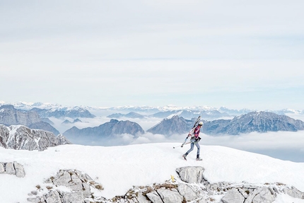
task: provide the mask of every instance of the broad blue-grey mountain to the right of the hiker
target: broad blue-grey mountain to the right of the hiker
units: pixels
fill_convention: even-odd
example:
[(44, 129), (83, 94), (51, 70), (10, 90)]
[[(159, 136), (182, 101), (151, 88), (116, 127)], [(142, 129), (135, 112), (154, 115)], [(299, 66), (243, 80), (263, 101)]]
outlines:
[(294, 120), (286, 115), (277, 115), (273, 112), (250, 112), (234, 117), (233, 120), (214, 120), (204, 122), (205, 134), (231, 134), (250, 132), (296, 132), (304, 129), (304, 122)]

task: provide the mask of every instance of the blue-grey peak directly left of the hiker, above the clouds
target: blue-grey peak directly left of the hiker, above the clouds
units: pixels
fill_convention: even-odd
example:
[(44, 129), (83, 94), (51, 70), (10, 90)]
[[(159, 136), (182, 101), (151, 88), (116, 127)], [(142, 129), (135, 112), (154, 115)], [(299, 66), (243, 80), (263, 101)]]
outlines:
[(164, 135), (187, 133), (192, 129), (194, 120), (185, 120), (183, 117), (175, 115), (171, 118), (165, 118), (155, 126), (148, 129), (147, 132)]

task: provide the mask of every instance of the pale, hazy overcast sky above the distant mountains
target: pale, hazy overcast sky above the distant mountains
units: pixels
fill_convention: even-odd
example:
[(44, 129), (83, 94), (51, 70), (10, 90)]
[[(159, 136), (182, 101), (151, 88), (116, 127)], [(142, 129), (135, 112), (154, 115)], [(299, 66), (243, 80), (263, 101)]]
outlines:
[(303, 110), (303, 6), (0, 0), (0, 100)]

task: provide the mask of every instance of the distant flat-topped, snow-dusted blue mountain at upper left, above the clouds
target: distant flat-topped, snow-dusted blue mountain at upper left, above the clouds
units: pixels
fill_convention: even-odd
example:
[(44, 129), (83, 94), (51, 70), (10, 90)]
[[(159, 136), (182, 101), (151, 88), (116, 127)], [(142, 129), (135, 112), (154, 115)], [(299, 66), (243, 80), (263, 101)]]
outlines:
[(74, 108), (59, 108), (59, 109), (40, 109), (40, 108), (32, 108), (32, 111), (37, 112), (40, 117), (95, 117), (95, 115), (91, 114), (88, 110), (80, 107)]

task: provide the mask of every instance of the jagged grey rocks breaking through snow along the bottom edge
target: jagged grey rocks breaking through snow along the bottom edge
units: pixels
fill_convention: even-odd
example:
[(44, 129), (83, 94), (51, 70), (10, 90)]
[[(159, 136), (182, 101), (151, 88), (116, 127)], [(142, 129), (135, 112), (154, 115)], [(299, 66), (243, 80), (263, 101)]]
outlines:
[[(78, 170), (60, 170), (56, 177), (45, 181), (47, 185), (38, 190), (46, 190), (45, 195), (38, 196), (37, 191), (30, 193), (28, 201), (39, 203), (265, 203), (274, 202), (277, 195), (286, 194), (304, 199), (304, 192), (279, 182), (251, 185), (247, 182), (238, 184), (230, 182), (210, 183), (204, 178), (204, 168), (189, 166), (176, 169), (179, 178), (148, 186), (134, 186), (123, 196), (105, 199), (95, 197), (91, 189), (103, 190), (88, 175)], [(70, 191), (59, 190), (59, 186)], [(35, 195), (35, 197), (33, 197)]]

